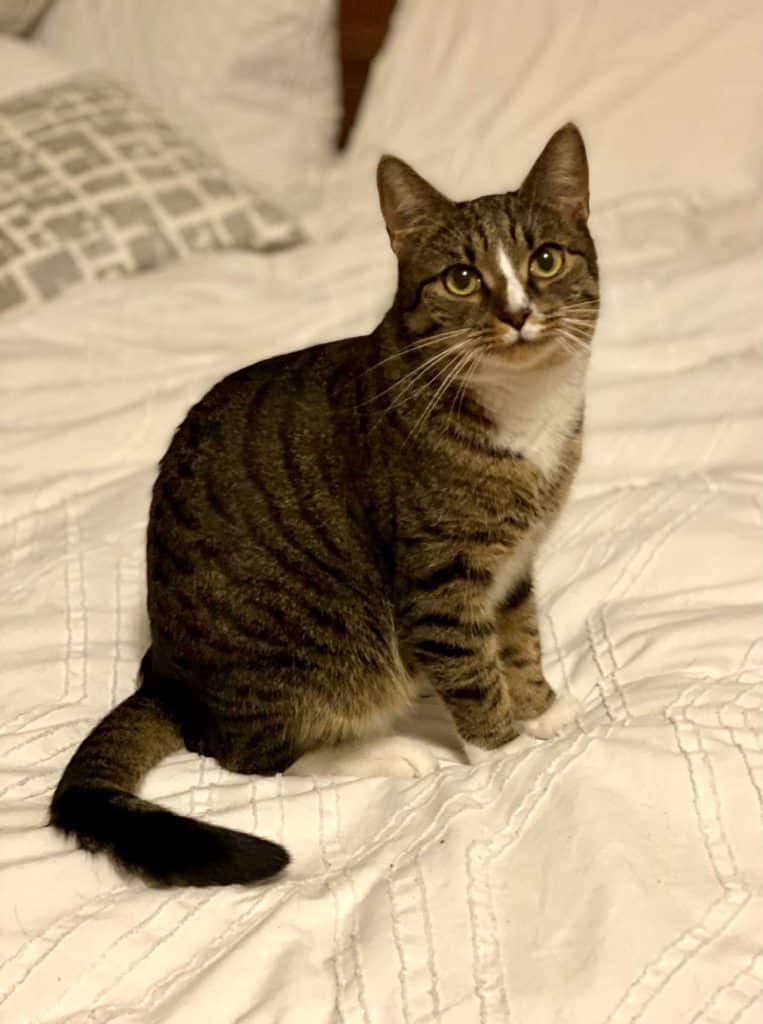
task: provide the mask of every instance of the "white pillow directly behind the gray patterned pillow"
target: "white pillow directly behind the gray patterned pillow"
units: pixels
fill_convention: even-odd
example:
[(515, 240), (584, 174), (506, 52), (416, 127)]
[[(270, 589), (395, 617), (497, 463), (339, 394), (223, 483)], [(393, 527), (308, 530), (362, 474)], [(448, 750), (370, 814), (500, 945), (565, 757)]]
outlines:
[(35, 39), (104, 72), (284, 209), (313, 205), (340, 117), (336, 0), (56, 0)]

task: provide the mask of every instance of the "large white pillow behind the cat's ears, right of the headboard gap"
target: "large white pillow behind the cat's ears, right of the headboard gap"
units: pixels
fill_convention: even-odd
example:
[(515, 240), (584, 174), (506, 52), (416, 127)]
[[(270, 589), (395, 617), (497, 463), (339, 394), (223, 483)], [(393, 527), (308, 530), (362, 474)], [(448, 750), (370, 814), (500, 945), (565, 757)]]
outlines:
[(594, 207), (759, 183), (760, 0), (398, 0), (349, 152), (410, 160), (456, 196), (519, 184), (581, 127)]

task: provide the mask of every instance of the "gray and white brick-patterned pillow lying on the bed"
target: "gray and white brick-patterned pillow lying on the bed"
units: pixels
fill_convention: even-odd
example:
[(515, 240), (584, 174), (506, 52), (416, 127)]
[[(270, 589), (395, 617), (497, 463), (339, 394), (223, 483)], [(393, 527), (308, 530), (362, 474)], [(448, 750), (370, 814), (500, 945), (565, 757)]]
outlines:
[(279, 249), (298, 237), (103, 76), (0, 102), (0, 311), (202, 250)]

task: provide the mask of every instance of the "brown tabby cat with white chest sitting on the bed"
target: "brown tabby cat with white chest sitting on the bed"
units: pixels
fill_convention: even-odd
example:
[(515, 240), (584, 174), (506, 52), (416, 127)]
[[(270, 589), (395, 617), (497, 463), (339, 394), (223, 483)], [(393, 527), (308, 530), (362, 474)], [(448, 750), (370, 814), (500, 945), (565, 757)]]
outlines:
[(398, 262), (379, 327), (226, 377), (161, 462), (140, 684), (51, 803), (152, 884), (289, 862), (137, 796), (183, 745), (281, 772), (392, 722), (422, 678), (473, 761), (553, 726), (532, 572), (580, 461), (598, 312), (583, 139), (557, 131), (516, 191), (452, 202), (393, 157), (378, 187)]

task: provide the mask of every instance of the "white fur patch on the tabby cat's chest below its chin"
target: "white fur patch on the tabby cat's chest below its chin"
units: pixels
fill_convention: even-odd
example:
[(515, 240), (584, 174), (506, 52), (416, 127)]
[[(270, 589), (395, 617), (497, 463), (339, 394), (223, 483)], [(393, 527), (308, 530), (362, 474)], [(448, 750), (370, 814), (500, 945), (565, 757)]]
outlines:
[[(497, 372), (491, 373), (495, 369)], [(583, 404), (586, 360), (501, 374), (485, 367), (476, 389), (496, 422), (495, 440), (533, 462), (550, 478), (573, 436)]]

